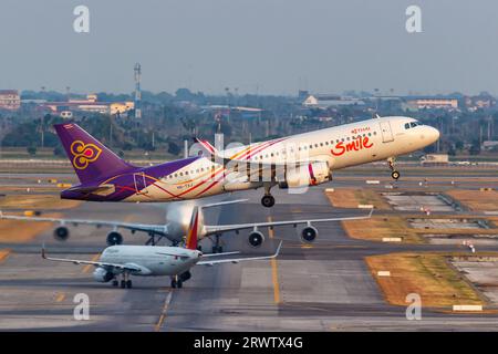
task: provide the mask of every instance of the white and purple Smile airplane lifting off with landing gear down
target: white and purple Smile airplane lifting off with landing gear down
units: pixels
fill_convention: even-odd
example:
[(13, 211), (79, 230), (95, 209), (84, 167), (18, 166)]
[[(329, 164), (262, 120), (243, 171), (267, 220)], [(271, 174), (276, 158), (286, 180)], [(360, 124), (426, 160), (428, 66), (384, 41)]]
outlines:
[(54, 125), (80, 185), (63, 199), (92, 201), (175, 201), (237, 190), (264, 188), (261, 204), (272, 207), (270, 189), (301, 188), (332, 180), (332, 171), (394, 159), (439, 138), (439, 132), (414, 118), (377, 117), (247, 146), (216, 150), (151, 167), (136, 167), (106, 148), (75, 123)]

